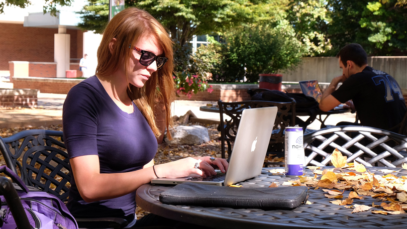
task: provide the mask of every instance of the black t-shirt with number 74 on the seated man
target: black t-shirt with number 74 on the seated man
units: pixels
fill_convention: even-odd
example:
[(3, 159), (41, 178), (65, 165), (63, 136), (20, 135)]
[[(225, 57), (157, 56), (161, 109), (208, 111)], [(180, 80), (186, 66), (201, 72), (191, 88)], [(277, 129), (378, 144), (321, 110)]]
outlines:
[(406, 114), (406, 102), (396, 80), (367, 66), (351, 75), (331, 94), (341, 103), (352, 100), (360, 123), (381, 129), (399, 124)]

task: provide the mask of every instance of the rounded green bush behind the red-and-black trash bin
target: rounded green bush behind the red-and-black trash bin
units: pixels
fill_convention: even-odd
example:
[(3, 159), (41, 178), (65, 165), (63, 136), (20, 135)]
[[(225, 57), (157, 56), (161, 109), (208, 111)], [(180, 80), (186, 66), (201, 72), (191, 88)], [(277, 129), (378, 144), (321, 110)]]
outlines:
[[(287, 20), (240, 26), (226, 33), (227, 44), (201, 46), (194, 58), (211, 49), (220, 61), (209, 69), (214, 81), (234, 82), (246, 77), (257, 82), (260, 73), (276, 73), (297, 65), (307, 51)], [(220, 46), (220, 48), (219, 48)]]

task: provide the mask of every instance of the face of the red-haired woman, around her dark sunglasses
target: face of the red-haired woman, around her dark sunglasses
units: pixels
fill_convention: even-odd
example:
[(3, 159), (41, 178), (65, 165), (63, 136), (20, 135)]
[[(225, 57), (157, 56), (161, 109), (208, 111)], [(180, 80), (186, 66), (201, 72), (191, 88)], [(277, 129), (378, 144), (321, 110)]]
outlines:
[[(158, 45), (156, 38), (153, 36), (141, 37), (135, 46), (141, 50), (154, 53), (156, 56), (163, 54), (163, 49)], [(133, 49), (133, 47), (131, 47)], [(154, 61), (149, 66), (140, 64), (141, 53), (133, 50), (133, 55), (129, 60), (128, 81), (130, 84), (142, 88), (145, 82), (151, 77), (153, 72), (157, 71), (157, 63)]]

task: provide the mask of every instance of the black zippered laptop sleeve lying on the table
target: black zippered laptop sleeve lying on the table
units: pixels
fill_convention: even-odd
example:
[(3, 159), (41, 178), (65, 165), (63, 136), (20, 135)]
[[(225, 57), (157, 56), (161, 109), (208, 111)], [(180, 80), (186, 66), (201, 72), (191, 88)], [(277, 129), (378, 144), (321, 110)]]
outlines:
[(160, 202), (171, 205), (226, 207), (234, 209), (291, 210), (308, 199), (305, 186), (236, 188), (183, 183), (160, 194)]

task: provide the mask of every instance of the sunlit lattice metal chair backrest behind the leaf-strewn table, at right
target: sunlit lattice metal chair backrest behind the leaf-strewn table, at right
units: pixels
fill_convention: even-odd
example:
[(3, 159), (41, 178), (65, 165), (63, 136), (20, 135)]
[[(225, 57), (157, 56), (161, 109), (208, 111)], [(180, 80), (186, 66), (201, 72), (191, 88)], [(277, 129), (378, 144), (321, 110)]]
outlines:
[(368, 126), (333, 126), (304, 135), (305, 164), (329, 164), (335, 148), (348, 163), (400, 167), (407, 162), (406, 136)]

